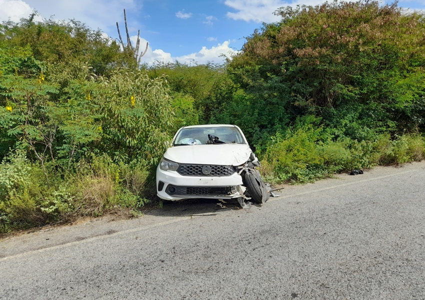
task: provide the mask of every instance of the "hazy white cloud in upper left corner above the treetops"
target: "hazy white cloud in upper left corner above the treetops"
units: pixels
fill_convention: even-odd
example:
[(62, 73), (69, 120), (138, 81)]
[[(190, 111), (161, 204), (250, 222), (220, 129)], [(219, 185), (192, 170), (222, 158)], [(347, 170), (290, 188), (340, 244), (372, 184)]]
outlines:
[[(112, 27), (122, 21), (122, 9), (134, 9), (135, 0), (0, 0), (1, 20), (28, 17), (32, 9), (45, 18), (76, 20), (96, 29)], [(129, 26), (131, 26), (129, 20)]]

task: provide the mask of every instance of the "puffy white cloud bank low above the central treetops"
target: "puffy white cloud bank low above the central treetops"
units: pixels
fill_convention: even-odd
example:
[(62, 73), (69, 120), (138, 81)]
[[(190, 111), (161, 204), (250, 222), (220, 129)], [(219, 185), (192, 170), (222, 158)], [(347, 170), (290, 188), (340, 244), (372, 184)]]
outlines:
[[(136, 43), (137, 36), (131, 36), (131, 41), (133, 44)], [(222, 63), (224, 62), (223, 55), (231, 57), (232, 55), (237, 54), (239, 51), (229, 47), (230, 41), (226, 40), (223, 43), (218, 43), (216, 46), (207, 48), (203, 46), (198, 52), (190, 53), (182, 56), (172, 56), (171, 53), (165, 52), (162, 49), (152, 49), (152, 47), (147, 47), (146, 54), (141, 57), (141, 62), (148, 65), (152, 65), (156, 61), (161, 62), (175, 62), (179, 61), (182, 63), (193, 63), (203, 64), (207, 62), (213, 63)], [(140, 38), (140, 52), (144, 51), (146, 45), (146, 40)]]

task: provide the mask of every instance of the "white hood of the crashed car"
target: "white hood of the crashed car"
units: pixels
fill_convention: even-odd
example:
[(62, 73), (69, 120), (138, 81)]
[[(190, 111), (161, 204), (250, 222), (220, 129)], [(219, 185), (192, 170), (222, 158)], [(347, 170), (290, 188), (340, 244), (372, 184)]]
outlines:
[(251, 152), (247, 144), (184, 145), (168, 148), (164, 157), (179, 163), (241, 165)]

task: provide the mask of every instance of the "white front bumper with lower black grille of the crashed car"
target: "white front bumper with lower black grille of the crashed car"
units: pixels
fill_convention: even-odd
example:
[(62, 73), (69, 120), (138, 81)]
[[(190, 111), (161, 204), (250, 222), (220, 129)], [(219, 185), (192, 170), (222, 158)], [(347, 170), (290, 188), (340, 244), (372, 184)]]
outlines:
[(183, 176), (176, 171), (156, 168), (156, 192), (165, 200), (236, 198), (243, 195), (240, 185), (242, 177), (236, 172), (229, 176)]

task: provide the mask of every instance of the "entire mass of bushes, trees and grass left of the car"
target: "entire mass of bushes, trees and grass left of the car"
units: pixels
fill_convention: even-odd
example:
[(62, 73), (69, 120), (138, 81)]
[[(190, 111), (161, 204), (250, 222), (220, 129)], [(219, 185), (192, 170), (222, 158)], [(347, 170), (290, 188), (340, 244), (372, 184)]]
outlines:
[[(0, 32), (0, 230), (136, 215), (175, 130), (165, 77), (122, 67), (131, 55), (75, 21)], [(4, 157), (9, 148), (17, 154)]]

